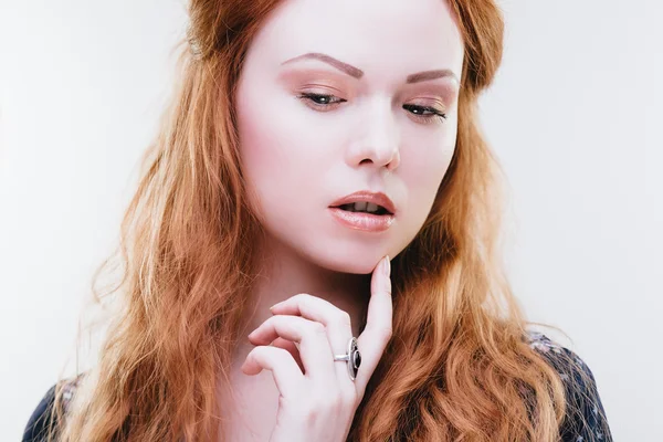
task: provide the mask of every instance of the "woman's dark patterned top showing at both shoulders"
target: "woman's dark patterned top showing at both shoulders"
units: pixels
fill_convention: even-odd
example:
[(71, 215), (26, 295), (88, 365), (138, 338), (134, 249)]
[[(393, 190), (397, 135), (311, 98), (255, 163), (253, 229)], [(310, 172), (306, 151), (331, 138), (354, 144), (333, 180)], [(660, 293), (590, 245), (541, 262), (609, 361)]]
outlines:
[[(612, 442), (593, 373), (573, 351), (540, 333), (528, 335), (529, 345), (559, 373), (566, 389), (567, 414), (560, 427), (561, 442)], [(63, 383), (63, 406), (67, 406), (81, 376)], [(51, 387), (30, 417), (23, 442), (44, 442), (49, 422), (53, 418), (55, 386)]]

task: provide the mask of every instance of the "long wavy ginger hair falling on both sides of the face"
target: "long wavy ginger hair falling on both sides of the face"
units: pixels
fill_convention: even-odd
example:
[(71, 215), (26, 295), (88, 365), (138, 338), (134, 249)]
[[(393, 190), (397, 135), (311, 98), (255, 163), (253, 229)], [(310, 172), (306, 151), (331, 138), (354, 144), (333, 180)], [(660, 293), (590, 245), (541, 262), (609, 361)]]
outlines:
[[(477, 123), (504, 21), (493, 0), (448, 1), (465, 50), (456, 148), (428, 219), (392, 261), (392, 338), (348, 440), (554, 441), (564, 385), (524, 338), (528, 323), (498, 253), (501, 169)], [(217, 382), (229, 379), (263, 233), (240, 167), (234, 91), (252, 38), (278, 3), (190, 2), (173, 98), (143, 159), (119, 246), (95, 275), (119, 266), (110, 288), (93, 287), (118, 309), (63, 441), (220, 435)]]

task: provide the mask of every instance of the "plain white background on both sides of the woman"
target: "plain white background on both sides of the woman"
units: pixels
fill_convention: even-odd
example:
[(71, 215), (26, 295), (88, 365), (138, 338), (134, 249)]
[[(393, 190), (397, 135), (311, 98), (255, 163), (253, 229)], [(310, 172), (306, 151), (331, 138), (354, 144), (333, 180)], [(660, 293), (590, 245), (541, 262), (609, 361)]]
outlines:
[[(661, 441), (663, 3), (508, 0), (482, 120), (513, 285), (591, 367), (618, 441)], [(183, 0), (0, 0), (0, 440), (73, 356), (167, 98)]]

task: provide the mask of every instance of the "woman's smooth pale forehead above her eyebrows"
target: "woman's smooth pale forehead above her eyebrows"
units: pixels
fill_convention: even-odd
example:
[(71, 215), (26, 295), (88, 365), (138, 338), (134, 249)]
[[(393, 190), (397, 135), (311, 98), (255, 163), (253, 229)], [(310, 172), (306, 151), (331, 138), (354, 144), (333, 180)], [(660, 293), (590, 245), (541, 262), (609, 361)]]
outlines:
[(463, 62), (462, 36), (444, 0), (285, 0), (251, 52), (262, 69), (325, 53), (382, 80), (441, 69), (460, 78)]

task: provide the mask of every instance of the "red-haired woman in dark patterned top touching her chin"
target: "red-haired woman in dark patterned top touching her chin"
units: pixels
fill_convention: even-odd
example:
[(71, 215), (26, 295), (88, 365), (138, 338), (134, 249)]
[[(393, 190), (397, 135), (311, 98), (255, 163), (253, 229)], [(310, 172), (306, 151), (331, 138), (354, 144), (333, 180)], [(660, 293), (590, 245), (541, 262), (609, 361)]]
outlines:
[(591, 371), (527, 330), (501, 265), (476, 120), (495, 3), (190, 17), (123, 224), (120, 308), (24, 440), (610, 440)]

